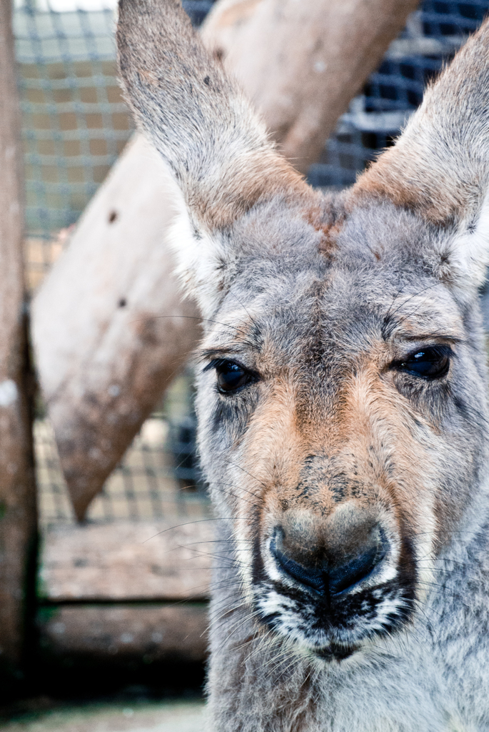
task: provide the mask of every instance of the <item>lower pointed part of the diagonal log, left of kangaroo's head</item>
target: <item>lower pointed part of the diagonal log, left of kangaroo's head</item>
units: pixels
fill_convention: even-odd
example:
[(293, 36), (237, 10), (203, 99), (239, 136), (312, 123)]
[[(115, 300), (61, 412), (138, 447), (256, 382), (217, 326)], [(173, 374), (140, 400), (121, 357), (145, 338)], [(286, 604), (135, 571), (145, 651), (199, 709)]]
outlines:
[(174, 191), (136, 138), (34, 300), (39, 380), (79, 519), (199, 337), (165, 242)]

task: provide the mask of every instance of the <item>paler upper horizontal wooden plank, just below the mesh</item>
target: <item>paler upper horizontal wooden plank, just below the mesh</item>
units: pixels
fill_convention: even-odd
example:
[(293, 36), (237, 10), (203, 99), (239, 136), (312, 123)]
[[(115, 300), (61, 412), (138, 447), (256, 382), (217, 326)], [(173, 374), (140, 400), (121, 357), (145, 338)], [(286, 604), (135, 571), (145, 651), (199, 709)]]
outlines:
[[(186, 520), (181, 519), (181, 523)], [(50, 529), (41, 556), (51, 602), (206, 600), (213, 521), (113, 523)]]

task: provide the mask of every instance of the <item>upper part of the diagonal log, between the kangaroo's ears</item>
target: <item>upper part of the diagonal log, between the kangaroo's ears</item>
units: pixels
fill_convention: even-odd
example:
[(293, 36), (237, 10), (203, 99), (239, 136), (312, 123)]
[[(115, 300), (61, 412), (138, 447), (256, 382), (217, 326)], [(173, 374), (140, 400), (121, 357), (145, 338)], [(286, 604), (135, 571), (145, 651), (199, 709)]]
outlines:
[(419, 0), (222, 0), (202, 29), (297, 170), (315, 163), (338, 116)]

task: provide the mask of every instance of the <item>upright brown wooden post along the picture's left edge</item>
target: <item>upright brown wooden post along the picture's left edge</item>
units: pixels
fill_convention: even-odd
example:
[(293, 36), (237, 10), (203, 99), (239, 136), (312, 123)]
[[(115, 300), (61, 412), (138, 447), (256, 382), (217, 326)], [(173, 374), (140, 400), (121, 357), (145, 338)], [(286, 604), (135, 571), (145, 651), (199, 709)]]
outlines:
[(0, 695), (22, 677), (37, 536), (10, 2), (0, 0)]

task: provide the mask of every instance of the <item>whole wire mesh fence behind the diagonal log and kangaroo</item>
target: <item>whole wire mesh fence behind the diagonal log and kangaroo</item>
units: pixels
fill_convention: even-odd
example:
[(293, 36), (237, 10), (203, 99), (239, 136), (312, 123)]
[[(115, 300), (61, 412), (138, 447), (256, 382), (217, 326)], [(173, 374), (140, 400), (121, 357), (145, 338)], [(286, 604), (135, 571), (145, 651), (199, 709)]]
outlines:
[[(74, 225), (105, 179), (133, 124), (115, 71), (115, 12), (88, 0), (23, 0), (13, 22), (23, 113), (26, 261), (34, 289), (61, 253)], [(72, 6), (67, 3), (72, 2)], [(56, 4), (58, 3), (58, 4)], [(213, 0), (183, 0), (194, 24)], [(426, 83), (477, 29), (489, 0), (423, 0), (325, 143), (309, 181), (344, 186), (390, 146), (422, 99)], [(178, 395), (180, 389), (180, 395)], [(72, 510), (48, 422), (36, 426), (41, 518), (70, 522)], [(176, 385), (96, 498), (89, 520), (206, 515), (195, 472), (189, 378)]]

